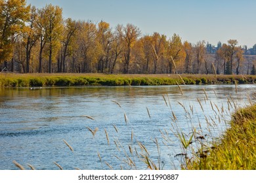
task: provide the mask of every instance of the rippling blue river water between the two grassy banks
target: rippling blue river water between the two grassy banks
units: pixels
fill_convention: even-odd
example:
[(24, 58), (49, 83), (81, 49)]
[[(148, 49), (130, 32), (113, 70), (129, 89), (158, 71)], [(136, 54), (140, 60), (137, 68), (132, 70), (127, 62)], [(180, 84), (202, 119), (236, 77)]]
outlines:
[[(230, 85), (182, 86), (183, 95), (177, 86), (0, 89), (0, 169), (16, 169), (13, 160), (26, 169), (27, 163), (36, 169), (58, 169), (54, 162), (64, 169), (110, 169), (106, 162), (114, 169), (131, 169), (127, 157), (137, 169), (146, 169), (136, 155), (136, 150), (146, 154), (138, 142), (156, 164), (159, 159), (164, 163), (163, 169), (179, 169), (179, 158), (174, 156), (181, 153), (181, 143), (172, 131), (188, 134), (195, 127), (207, 137), (218, 137), (230, 119), (228, 108), (234, 110), (234, 103), (247, 105), (255, 89), (241, 85), (236, 93)], [(210, 129), (211, 120), (207, 123), (205, 118), (216, 126)], [(98, 127), (95, 137), (87, 127)]]

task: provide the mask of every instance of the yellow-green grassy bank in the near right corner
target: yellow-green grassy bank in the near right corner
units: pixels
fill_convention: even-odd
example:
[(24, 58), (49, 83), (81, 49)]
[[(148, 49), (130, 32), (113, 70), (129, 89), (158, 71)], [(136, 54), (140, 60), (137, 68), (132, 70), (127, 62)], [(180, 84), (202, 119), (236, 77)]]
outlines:
[(230, 128), (211, 147), (202, 146), (185, 169), (256, 169), (256, 105), (241, 108), (232, 115)]

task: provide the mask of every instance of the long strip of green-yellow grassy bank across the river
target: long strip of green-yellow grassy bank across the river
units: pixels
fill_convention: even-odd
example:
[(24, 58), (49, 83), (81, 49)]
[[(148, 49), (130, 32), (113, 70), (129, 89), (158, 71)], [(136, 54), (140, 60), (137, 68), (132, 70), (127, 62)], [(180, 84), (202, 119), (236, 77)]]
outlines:
[(158, 86), (177, 84), (246, 84), (256, 76), (242, 75), (103, 75), (103, 74), (0, 74), (0, 87), (40, 86)]

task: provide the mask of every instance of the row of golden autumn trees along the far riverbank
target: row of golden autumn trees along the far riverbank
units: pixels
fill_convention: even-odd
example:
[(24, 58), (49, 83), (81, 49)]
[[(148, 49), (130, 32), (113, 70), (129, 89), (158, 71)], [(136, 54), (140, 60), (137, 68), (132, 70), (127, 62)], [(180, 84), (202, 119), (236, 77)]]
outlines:
[[(0, 0), (0, 69), (20, 73), (241, 73), (236, 39), (207, 52), (205, 41), (142, 35), (133, 24), (64, 19), (62, 8)], [(254, 67), (253, 67), (254, 68)]]

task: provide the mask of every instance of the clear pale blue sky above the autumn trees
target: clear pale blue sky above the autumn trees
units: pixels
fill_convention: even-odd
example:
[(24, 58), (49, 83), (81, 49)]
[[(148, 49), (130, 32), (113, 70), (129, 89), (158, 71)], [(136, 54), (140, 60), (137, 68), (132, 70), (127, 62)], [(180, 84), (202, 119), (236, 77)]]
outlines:
[(104, 20), (111, 27), (131, 23), (142, 35), (158, 32), (196, 44), (237, 39), (249, 48), (256, 44), (255, 0), (27, 0), (37, 8), (63, 8), (64, 18)]

